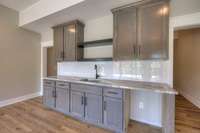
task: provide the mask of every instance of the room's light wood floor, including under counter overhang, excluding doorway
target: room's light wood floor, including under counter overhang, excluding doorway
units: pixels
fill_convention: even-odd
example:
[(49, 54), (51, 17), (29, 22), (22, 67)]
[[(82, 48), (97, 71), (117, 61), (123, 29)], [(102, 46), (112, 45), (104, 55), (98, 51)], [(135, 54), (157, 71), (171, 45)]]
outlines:
[[(161, 133), (161, 130), (130, 122), (128, 133)], [(112, 133), (81, 123), (45, 108), (41, 98), (0, 109), (0, 133)]]

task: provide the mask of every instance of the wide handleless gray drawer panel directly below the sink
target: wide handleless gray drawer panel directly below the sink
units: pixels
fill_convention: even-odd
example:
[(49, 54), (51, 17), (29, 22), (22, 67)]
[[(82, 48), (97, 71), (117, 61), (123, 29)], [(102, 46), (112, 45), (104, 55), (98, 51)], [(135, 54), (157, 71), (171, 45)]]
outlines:
[(96, 95), (102, 95), (102, 88), (97, 86), (82, 85), (82, 84), (71, 84), (71, 89), (86, 93), (93, 93)]

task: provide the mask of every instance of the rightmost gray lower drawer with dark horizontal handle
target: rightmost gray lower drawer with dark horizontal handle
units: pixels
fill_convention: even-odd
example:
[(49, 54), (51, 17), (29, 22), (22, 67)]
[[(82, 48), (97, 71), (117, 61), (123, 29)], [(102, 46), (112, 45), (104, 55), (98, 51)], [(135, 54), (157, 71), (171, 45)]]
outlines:
[(122, 98), (122, 89), (104, 88), (103, 95), (114, 98)]

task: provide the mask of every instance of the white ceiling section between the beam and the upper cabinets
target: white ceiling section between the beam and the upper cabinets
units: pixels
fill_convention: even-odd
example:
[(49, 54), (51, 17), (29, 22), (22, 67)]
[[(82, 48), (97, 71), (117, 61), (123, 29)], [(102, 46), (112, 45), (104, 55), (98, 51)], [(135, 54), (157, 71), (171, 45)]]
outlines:
[(74, 19), (86, 22), (91, 19), (111, 15), (111, 9), (139, 0), (85, 0), (55, 14), (37, 20), (23, 27), (38, 33), (48, 31), (52, 26)]

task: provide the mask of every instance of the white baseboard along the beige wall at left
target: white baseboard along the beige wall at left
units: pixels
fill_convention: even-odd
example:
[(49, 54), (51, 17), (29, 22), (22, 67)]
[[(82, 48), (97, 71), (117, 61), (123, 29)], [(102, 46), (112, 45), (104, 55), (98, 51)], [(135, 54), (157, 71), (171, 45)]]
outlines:
[(41, 96), (41, 92), (36, 92), (36, 93), (28, 94), (28, 95), (25, 95), (25, 96), (20, 96), (20, 97), (17, 97), (17, 98), (12, 98), (12, 99), (8, 99), (8, 100), (0, 101), (0, 108), (11, 105), (11, 104), (15, 104), (15, 103), (18, 103), (18, 102), (22, 102), (22, 101), (25, 101), (25, 100), (29, 100), (29, 99), (32, 99), (32, 98), (35, 98), (35, 97), (39, 97), (39, 96)]

